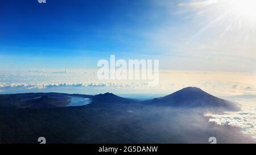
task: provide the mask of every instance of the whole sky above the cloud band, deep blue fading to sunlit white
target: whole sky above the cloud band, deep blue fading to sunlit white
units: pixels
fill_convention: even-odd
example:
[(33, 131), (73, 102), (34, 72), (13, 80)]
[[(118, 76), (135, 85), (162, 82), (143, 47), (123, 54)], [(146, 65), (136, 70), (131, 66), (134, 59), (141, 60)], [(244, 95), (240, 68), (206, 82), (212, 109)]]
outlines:
[(97, 68), (116, 55), (159, 59), (162, 69), (255, 72), (255, 23), (239, 11), (226, 15), (232, 7), (216, 0), (3, 0), (0, 68)]

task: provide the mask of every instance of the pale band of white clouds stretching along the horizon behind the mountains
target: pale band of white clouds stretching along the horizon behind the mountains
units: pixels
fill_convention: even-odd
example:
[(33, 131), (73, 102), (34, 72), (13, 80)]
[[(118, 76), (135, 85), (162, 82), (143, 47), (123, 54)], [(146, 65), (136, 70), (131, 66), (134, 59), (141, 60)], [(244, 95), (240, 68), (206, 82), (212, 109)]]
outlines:
[[(64, 70), (64, 71), (63, 71)], [(256, 92), (256, 74), (233, 72), (209, 72), (189, 70), (160, 70), (159, 85), (148, 86), (145, 80), (99, 80), (97, 70), (34, 70), (0, 72), (1, 90), (34, 90), (56, 91), (64, 87), (72, 88), (72, 91), (90, 93), (89, 90), (119, 92), (122, 88), (125, 93), (162, 93), (170, 94), (187, 86), (196, 86), (216, 95), (239, 95)], [(63, 73), (59, 73), (63, 72)], [(111, 90), (108, 90), (111, 88)], [(236, 88), (236, 89), (235, 89)], [(128, 90), (129, 89), (129, 90)], [(26, 92), (27, 92), (26, 91)], [(75, 91), (76, 92), (76, 91)]]

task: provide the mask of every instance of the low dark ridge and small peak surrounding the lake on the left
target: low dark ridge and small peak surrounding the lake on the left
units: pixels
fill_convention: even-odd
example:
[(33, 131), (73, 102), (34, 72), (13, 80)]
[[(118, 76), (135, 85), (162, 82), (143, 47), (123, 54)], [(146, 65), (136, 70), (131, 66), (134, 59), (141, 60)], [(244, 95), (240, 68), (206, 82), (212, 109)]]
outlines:
[(122, 98), (112, 93), (98, 95), (63, 93), (25, 93), (0, 95), (0, 106), (16, 108), (53, 108), (65, 107), (72, 97), (92, 99), (92, 103), (133, 103), (134, 99)]

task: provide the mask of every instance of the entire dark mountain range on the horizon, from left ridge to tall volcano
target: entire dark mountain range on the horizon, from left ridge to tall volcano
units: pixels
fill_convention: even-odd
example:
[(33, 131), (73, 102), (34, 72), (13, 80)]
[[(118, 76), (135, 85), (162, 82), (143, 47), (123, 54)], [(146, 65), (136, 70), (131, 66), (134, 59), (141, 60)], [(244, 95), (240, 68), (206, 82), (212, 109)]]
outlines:
[[(92, 104), (141, 103), (172, 107), (220, 107), (238, 110), (231, 102), (214, 97), (197, 87), (186, 87), (166, 97), (139, 102), (135, 99), (122, 98), (112, 93), (98, 95), (63, 94), (63, 93), (26, 93), (0, 95), (0, 106), (18, 108), (53, 108), (65, 107), (72, 97), (90, 98)], [(108, 105), (106, 104), (106, 105)]]

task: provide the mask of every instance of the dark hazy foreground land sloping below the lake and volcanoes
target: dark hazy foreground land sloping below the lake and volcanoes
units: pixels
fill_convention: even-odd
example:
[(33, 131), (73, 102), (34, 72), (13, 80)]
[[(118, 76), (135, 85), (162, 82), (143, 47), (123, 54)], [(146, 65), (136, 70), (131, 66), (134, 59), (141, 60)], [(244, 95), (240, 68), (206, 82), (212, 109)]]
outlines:
[[(191, 88), (183, 92), (188, 90), (193, 94)], [(216, 137), (217, 143), (255, 143), (238, 128), (208, 122), (205, 112), (218, 111), (222, 105), (147, 104), (111, 93), (85, 97), (92, 98), (92, 103), (53, 108), (1, 106), (1, 143), (38, 143), (38, 137), (46, 137), (47, 143), (209, 143), (209, 137)]]

